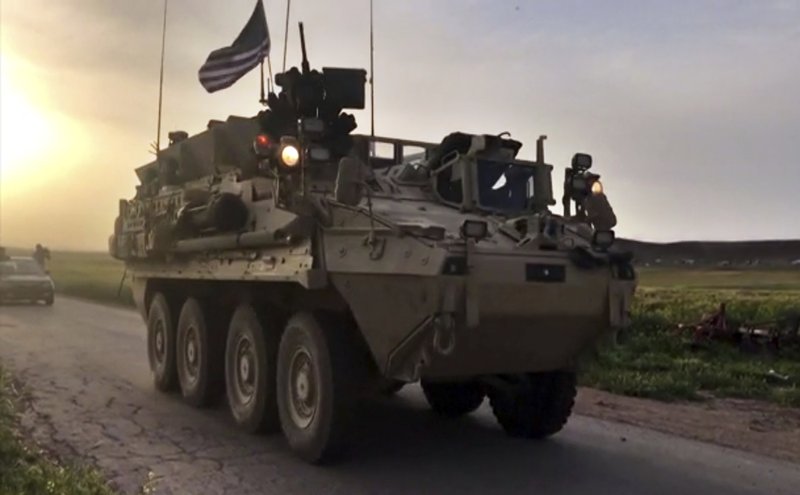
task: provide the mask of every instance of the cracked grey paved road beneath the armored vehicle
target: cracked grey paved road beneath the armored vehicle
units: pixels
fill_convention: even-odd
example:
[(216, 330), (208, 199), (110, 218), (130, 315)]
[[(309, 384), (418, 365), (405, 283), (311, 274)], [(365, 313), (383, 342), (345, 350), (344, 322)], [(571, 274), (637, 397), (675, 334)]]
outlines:
[(154, 391), (138, 315), (61, 298), (0, 307), (0, 360), (32, 393), (24, 424), (94, 461), (125, 493), (796, 494), (800, 466), (591, 418), (545, 442), (507, 438), (484, 405), (457, 421), (417, 387), (367, 406), (349, 460), (297, 461), (280, 435), (237, 431)]

